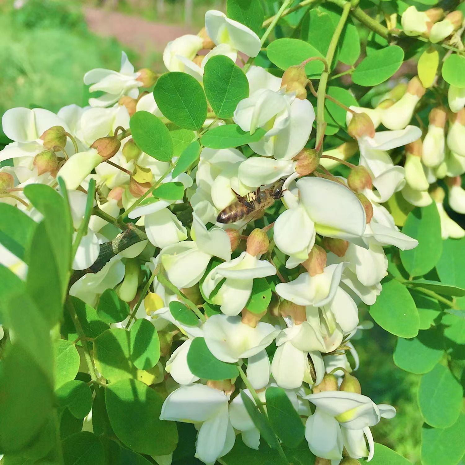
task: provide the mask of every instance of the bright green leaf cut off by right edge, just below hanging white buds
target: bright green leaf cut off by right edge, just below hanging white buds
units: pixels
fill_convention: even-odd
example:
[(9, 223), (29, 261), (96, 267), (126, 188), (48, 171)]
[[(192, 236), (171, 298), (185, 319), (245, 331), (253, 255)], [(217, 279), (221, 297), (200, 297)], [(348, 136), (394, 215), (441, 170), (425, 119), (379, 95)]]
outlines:
[(465, 287), (465, 238), (446, 239), (442, 243), (442, 254), (436, 264), (439, 279), (453, 286)]

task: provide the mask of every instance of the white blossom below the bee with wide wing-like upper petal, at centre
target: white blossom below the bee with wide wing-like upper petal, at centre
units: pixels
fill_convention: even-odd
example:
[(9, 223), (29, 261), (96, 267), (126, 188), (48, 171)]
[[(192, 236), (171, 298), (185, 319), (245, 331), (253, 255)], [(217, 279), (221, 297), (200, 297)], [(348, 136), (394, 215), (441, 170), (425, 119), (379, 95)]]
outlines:
[(212, 298), (212, 302), (219, 305), (226, 315), (234, 316), (246, 306), (252, 293), (253, 279), (265, 278), (275, 273), (276, 268), (268, 261), (259, 260), (248, 252), (242, 252), (239, 257), (215, 266), (206, 275), (202, 289), (209, 298), (219, 282), (226, 278)]

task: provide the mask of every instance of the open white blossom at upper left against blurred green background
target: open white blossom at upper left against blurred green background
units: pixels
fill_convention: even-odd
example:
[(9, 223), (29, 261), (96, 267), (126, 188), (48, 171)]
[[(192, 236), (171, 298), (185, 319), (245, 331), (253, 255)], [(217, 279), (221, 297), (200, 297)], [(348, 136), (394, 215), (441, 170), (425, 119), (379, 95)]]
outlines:
[(111, 69), (95, 68), (84, 74), (84, 84), (89, 87), (90, 92), (103, 91), (101, 97), (90, 98), (90, 106), (109, 106), (116, 103), (124, 95), (133, 99), (139, 96), (138, 87), (142, 82), (137, 78), (139, 73), (134, 73), (134, 66), (130, 63), (126, 53), (121, 52), (121, 69), (113, 71)]

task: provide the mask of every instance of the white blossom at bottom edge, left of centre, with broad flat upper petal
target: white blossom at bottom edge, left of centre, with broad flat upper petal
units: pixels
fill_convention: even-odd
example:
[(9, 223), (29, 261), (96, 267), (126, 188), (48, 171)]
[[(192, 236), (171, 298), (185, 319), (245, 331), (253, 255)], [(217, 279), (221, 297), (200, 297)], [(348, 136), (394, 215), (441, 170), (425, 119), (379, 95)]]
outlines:
[(233, 448), (235, 441), (228, 401), (229, 396), (205, 385), (181, 386), (165, 399), (160, 419), (199, 423), (195, 456), (214, 464)]

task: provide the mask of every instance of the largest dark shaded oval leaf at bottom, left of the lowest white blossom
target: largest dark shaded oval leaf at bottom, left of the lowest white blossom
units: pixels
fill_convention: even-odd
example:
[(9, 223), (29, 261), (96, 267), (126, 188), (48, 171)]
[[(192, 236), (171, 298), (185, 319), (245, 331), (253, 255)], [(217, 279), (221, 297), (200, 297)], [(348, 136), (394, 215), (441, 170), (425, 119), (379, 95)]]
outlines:
[(107, 386), (106, 410), (113, 431), (134, 452), (167, 455), (178, 443), (174, 421), (160, 420), (163, 398), (135, 379), (124, 379)]

